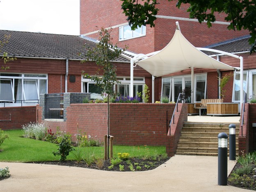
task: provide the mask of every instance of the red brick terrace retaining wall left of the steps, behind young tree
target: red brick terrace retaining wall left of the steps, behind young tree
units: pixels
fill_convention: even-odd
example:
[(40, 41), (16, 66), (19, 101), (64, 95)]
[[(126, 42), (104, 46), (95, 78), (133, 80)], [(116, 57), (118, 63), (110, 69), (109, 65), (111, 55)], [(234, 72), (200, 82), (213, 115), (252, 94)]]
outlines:
[[(114, 144), (165, 145), (167, 127), (174, 104), (110, 103), (110, 135)], [(40, 107), (37, 106), (39, 111)], [(78, 131), (97, 136), (103, 141), (107, 134), (107, 103), (71, 104), (67, 108), (66, 121), (47, 120), (46, 126), (56, 133), (71, 133), (73, 139)]]

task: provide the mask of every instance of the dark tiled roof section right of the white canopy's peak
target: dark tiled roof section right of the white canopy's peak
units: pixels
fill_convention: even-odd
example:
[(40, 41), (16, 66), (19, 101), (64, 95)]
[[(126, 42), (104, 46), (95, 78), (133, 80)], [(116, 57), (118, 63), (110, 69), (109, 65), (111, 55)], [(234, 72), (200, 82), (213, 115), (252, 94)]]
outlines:
[[(251, 45), (248, 42), (248, 39), (250, 38), (249, 35), (243, 36), (243, 37), (238, 37), (235, 39), (230, 39), (228, 41), (223, 41), (220, 43), (216, 43), (210, 46), (207, 46), (206, 48), (210, 49), (216, 49), (216, 50), (221, 50), (225, 51), (228, 53), (238, 53), (238, 52), (243, 52), (243, 51), (249, 51), (251, 48)], [(213, 52), (205, 52), (207, 55), (213, 55), (215, 53)]]

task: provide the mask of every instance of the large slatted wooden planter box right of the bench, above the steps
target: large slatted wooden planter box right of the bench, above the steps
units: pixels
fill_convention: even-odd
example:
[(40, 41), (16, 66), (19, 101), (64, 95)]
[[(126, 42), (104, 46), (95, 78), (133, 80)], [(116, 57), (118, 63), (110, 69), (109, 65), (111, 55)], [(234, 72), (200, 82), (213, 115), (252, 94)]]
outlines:
[(238, 103), (207, 103), (208, 115), (238, 115)]

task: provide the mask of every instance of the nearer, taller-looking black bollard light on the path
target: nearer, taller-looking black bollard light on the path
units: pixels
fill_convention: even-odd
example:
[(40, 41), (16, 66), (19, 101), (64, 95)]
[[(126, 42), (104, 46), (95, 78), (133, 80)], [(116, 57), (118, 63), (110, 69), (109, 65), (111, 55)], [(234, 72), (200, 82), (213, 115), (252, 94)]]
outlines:
[(218, 185), (228, 184), (228, 135), (218, 135)]

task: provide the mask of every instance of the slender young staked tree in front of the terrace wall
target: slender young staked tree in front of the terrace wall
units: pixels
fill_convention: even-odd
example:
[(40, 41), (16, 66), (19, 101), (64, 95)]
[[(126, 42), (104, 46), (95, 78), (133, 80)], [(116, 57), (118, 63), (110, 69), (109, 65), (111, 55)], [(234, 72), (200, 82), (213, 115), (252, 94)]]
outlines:
[[(111, 32), (111, 31), (110, 31)], [(110, 38), (110, 32), (108, 30), (101, 28), (99, 31), (99, 43), (95, 48), (88, 48), (84, 57), (85, 61), (92, 60), (98, 66), (98, 70), (96, 75), (90, 76), (85, 71), (82, 71), (87, 78), (96, 82), (96, 85), (101, 87), (103, 90), (102, 94), (106, 94), (107, 96), (107, 158), (109, 159), (109, 139), (110, 139), (110, 107), (109, 100), (110, 96), (113, 96), (114, 90), (113, 86), (116, 83), (119, 83), (116, 74), (116, 66), (113, 64), (113, 60), (117, 59), (124, 50), (121, 50), (117, 47), (117, 45), (113, 45)], [(126, 48), (125, 48), (126, 50)]]

